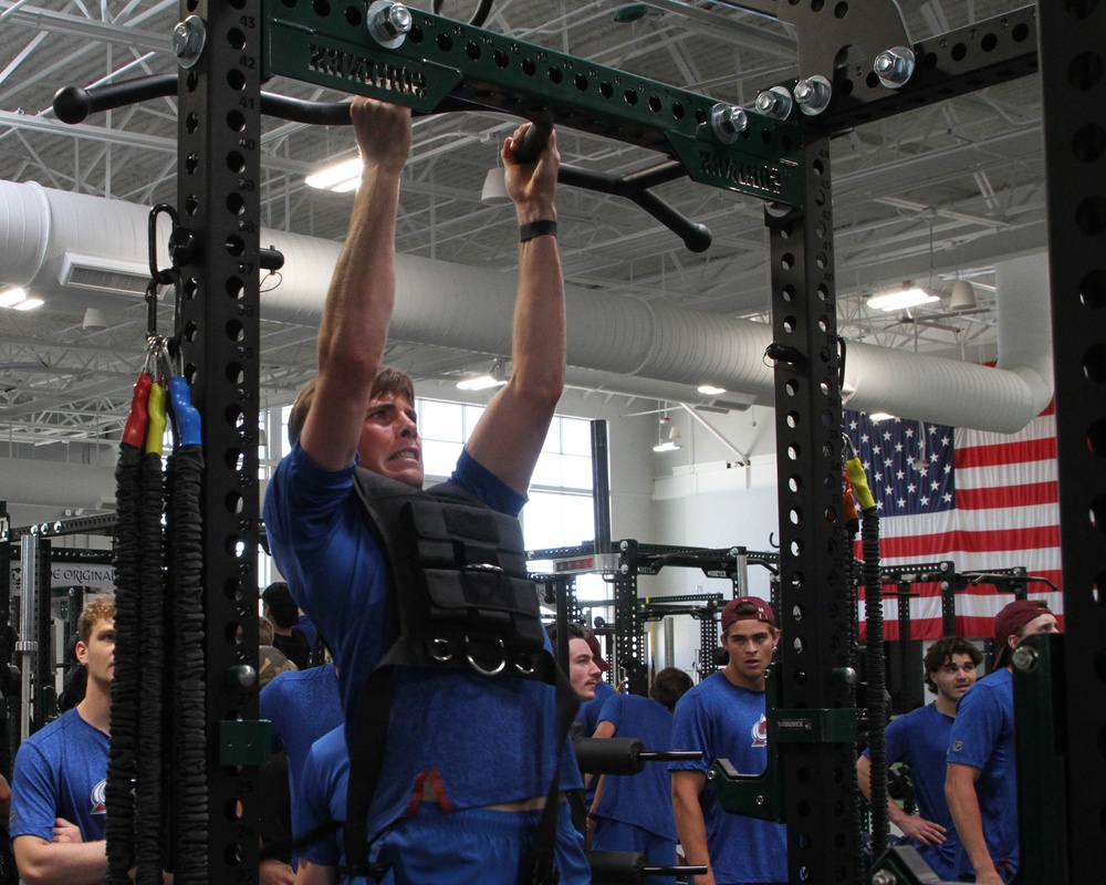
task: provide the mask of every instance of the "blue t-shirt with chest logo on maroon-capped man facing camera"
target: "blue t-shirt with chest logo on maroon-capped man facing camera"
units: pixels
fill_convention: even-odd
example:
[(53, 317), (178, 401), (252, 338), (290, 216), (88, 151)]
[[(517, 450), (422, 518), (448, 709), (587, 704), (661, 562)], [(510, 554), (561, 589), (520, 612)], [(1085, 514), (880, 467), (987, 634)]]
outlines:
[[(669, 771), (706, 774), (716, 759), (729, 759), (742, 774), (762, 774), (768, 767), (764, 693), (733, 685), (722, 670), (711, 674), (676, 705), (672, 747), (702, 750), (703, 758), (669, 762)], [(719, 885), (787, 881), (784, 824), (723, 811), (710, 781), (699, 793), (699, 806), (707, 824), (707, 851)]]

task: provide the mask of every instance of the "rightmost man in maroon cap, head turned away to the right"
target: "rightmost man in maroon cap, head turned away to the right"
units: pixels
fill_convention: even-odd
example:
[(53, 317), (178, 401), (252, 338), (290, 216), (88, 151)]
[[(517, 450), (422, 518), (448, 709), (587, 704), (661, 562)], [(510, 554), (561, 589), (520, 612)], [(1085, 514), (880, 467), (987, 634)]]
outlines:
[(960, 700), (952, 726), (945, 793), (960, 834), (961, 882), (1001, 885), (1018, 872), (1018, 771), (1014, 762), (1013, 648), (1056, 633), (1040, 601), (1019, 600), (994, 618), (994, 673)]

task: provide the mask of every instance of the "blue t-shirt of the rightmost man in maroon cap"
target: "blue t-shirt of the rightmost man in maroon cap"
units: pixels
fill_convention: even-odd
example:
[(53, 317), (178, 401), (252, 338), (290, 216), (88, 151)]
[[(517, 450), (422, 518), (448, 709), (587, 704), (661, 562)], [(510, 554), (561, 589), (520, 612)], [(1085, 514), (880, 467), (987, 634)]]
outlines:
[[(1014, 683), (1005, 667), (972, 687), (957, 704), (948, 761), (980, 770), (975, 781), (983, 837), (1004, 878), (1018, 870), (1018, 770), (1014, 761)], [(960, 846), (957, 874), (975, 872)]]

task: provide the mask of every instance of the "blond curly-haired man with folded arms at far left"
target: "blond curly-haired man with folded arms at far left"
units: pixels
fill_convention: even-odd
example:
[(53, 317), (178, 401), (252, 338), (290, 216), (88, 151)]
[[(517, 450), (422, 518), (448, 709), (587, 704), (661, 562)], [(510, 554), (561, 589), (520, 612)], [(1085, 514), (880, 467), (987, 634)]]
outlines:
[(28, 738), (15, 756), (9, 830), (27, 885), (93, 885), (107, 875), (104, 788), (115, 671), (115, 600), (77, 620), (84, 700)]

